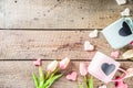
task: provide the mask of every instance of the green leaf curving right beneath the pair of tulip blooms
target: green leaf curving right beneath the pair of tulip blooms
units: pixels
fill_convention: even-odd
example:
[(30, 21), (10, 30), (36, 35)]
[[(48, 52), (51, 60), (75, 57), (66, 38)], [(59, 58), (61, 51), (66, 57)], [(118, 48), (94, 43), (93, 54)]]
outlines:
[(49, 78), (49, 79), (45, 81), (43, 88), (50, 88), (50, 87), (52, 86), (52, 84), (53, 84), (57, 79), (59, 79), (61, 76), (62, 76), (62, 75), (55, 75), (55, 76)]

